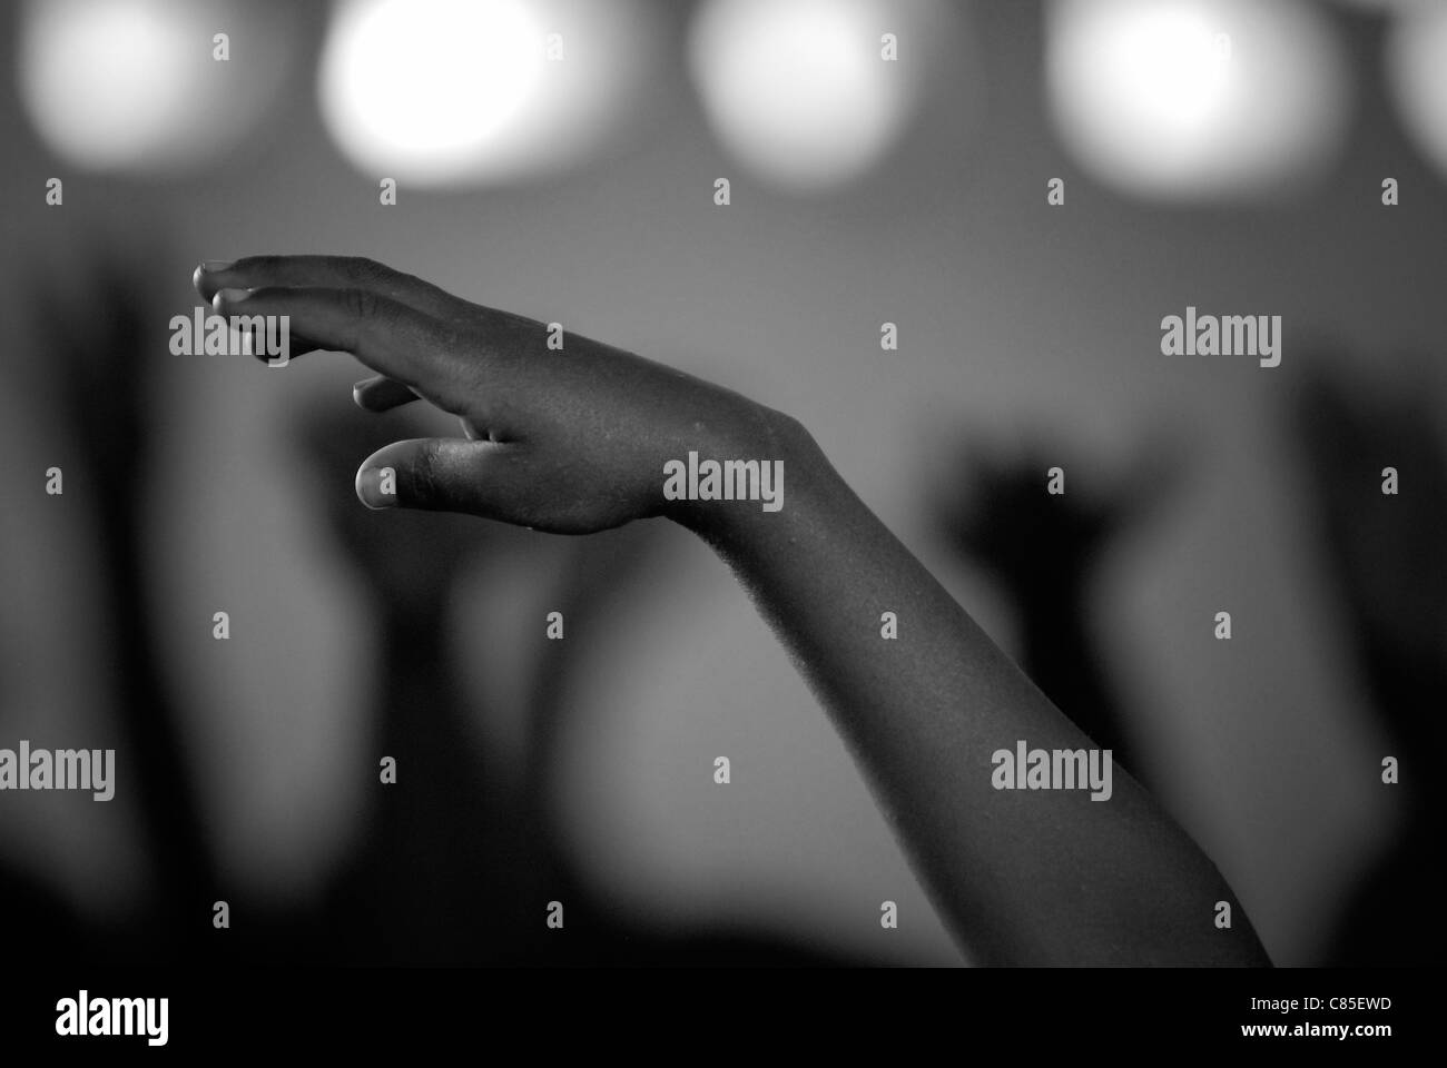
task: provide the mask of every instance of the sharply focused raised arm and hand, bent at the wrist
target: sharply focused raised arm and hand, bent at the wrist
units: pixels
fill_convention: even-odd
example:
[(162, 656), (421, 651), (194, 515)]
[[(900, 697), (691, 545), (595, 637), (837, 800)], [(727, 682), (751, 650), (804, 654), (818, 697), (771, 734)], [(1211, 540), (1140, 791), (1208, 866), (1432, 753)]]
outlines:
[[(1124, 771), (1113, 796), (996, 790), (991, 753), (1090, 748), (860, 501), (793, 418), (621, 349), (459, 300), (372, 260), (203, 265), (221, 314), (288, 315), (300, 346), (378, 373), (356, 402), (421, 398), (463, 437), (363, 460), (372, 508), (454, 511), (556, 534), (661, 517), (734, 569), (842, 734), (922, 883), (983, 964), (1269, 964), (1191, 838)], [(667, 501), (664, 465), (783, 460), (784, 505)], [(382, 469), (395, 492), (383, 493)], [(881, 637), (881, 612), (899, 637)], [(1217, 929), (1215, 903), (1233, 926)]]

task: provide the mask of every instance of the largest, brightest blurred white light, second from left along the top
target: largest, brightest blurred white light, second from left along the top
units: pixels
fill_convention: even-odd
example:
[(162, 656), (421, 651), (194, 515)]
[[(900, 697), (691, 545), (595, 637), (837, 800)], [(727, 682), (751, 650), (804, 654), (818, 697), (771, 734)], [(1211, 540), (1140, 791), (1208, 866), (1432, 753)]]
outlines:
[(650, 38), (634, 0), (344, 0), (323, 48), (321, 114), (373, 174), (514, 178), (615, 132)]

